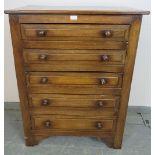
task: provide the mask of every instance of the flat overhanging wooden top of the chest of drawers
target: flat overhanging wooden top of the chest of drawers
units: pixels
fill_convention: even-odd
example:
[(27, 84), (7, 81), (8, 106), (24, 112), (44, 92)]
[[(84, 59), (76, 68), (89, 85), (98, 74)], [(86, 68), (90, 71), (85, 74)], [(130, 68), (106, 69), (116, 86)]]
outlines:
[(6, 14), (127, 14), (147, 15), (150, 11), (138, 10), (128, 7), (103, 6), (25, 6), (17, 9), (5, 10)]

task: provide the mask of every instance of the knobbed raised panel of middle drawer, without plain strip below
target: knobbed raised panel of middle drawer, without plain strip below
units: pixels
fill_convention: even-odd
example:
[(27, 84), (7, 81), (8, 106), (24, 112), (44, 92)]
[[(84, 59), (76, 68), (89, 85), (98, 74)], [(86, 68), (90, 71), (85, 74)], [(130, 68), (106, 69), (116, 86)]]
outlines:
[(94, 85), (121, 87), (122, 75), (114, 73), (30, 73), (29, 85)]

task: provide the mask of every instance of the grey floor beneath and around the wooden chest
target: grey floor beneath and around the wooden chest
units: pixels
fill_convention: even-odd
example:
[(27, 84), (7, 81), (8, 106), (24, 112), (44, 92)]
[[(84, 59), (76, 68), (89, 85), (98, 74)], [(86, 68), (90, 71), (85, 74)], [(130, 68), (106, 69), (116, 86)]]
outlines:
[(5, 103), (5, 155), (151, 155), (149, 122), (149, 108), (129, 107), (121, 150), (90, 137), (51, 137), (26, 147), (18, 103)]

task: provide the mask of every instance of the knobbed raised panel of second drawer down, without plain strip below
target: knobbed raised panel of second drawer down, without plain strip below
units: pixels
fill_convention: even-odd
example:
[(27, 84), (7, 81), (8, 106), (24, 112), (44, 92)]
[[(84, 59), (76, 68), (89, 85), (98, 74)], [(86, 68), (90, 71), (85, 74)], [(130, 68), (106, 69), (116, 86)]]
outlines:
[[(126, 51), (121, 50), (40, 50), (24, 49), (24, 61), (30, 64), (54, 64), (73, 61), (97, 64), (124, 64)], [(59, 65), (59, 64), (58, 64)]]

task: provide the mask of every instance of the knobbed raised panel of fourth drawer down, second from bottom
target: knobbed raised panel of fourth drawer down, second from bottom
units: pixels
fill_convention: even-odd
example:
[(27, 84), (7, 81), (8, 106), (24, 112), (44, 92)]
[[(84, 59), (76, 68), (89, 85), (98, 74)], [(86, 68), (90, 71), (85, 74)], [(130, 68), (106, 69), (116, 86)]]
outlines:
[(56, 95), (56, 94), (31, 94), (30, 106), (36, 108), (86, 108), (103, 110), (111, 108), (117, 110), (118, 96), (106, 95)]

